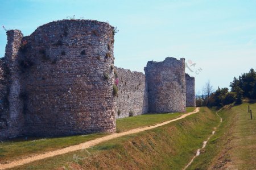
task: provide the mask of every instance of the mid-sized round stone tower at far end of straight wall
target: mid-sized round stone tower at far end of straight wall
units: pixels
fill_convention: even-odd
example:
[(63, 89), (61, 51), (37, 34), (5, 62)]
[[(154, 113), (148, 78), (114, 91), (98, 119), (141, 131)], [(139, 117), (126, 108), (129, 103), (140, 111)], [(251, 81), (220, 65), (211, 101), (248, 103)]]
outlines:
[(148, 61), (144, 68), (151, 113), (185, 111), (185, 59), (167, 57), (162, 62)]

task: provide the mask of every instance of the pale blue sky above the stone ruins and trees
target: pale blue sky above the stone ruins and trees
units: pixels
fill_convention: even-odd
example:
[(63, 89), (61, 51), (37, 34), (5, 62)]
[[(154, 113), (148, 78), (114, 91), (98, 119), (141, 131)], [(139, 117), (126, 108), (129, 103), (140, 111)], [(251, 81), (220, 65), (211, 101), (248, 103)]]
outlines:
[[(0, 0), (0, 24), (30, 35), (42, 24), (75, 15), (109, 22), (115, 65), (144, 72), (147, 61), (184, 57), (196, 92), (210, 80), (228, 87), (234, 76), (256, 69), (256, 1)], [(0, 56), (6, 33), (0, 30)], [(197, 71), (197, 70), (200, 70)], [(197, 72), (196, 72), (197, 71)], [(198, 73), (198, 74), (196, 74)]]

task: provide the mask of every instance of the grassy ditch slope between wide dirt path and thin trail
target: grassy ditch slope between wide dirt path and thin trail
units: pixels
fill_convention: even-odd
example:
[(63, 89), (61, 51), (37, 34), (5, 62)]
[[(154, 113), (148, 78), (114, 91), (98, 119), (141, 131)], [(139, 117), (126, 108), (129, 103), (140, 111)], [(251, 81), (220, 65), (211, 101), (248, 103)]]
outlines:
[(168, 125), (14, 169), (181, 169), (218, 125), (207, 108)]

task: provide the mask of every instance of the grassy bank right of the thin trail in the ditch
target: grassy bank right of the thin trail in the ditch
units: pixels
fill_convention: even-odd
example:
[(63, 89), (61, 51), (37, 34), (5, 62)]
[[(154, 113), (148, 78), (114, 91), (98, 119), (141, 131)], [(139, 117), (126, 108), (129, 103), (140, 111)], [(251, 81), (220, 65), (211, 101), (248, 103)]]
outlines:
[(223, 119), (221, 126), (188, 169), (256, 168), (256, 104), (250, 105), (253, 120), (247, 106), (226, 107), (218, 113)]

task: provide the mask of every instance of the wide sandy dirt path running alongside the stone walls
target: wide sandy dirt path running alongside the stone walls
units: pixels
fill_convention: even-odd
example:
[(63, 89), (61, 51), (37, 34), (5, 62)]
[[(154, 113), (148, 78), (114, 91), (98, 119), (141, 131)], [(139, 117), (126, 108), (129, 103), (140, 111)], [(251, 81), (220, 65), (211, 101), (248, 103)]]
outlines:
[(32, 155), (30, 157), (15, 160), (15, 161), (13, 161), (11, 163), (7, 163), (7, 164), (0, 164), (0, 169), (13, 168), (13, 167), (17, 167), (17, 166), (20, 166), (20, 165), (23, 165), (23, 164), (31, 163), (32, 161), (42, 160), (42, 159), (52, 157), (52, 156), (67, 154), (68, 152), (83, 150), (83, 149), (86, 149), (86, 148), (89, 148), (89, 147), (92, 147), (92, 146), (96, 146), (97, 144), (99, 144), (101, 142), (105, 142), (105, 141), (110, 140), (110, 139), (118, 138), (118, 137), (125, 136), (125, 135), (135, 134), (137, 132), (142, 132), (142, 131), (150, 130), (152, 128), (156, 128), (156, 127), (159, 127), (159, 126), (167, 125), (168, 123), (175, 122), (175, 121), (183, 119), (183, 118), (185, 118), (185, 117), (187, 117), (191, 114), (197, 113), (197, 112), (199, 112), (199, 109), (200, 109), (199, 107), (196, 107), (195, 111), (192, 111), (192, 112), (187, 113), (187, 114), (183, 114), (183, 115), (181, 115), (181, 117), (176, 118), (176, 119), (172, 119), (171, 121), (166, 121), (166, 122), (159, 123), (159, 124), (156, 124), (156, 125), (153, 125), (153, 126), (135, 128), (135, 129), (132, 129), (132, 130), (129, 130), (129, 131), (126, 131), (126, 132), (111, 134), (111, 135), (108, 135), (108, 136), (104, 136), (102, 138), (97, 138), (97, 139), (90, 140), (90, 141), (87, 141), (87, 142), (84, 142), (84, 143), (80, 143), (80, 144), (77, 144), (77, 145), (74, 145), (74, 146), (69, 146), (69, 147), (66, 147), (66, 148), (62, 148), (60, 150), (46, 152), (45, 154), (40, 154), (40, 155)]

